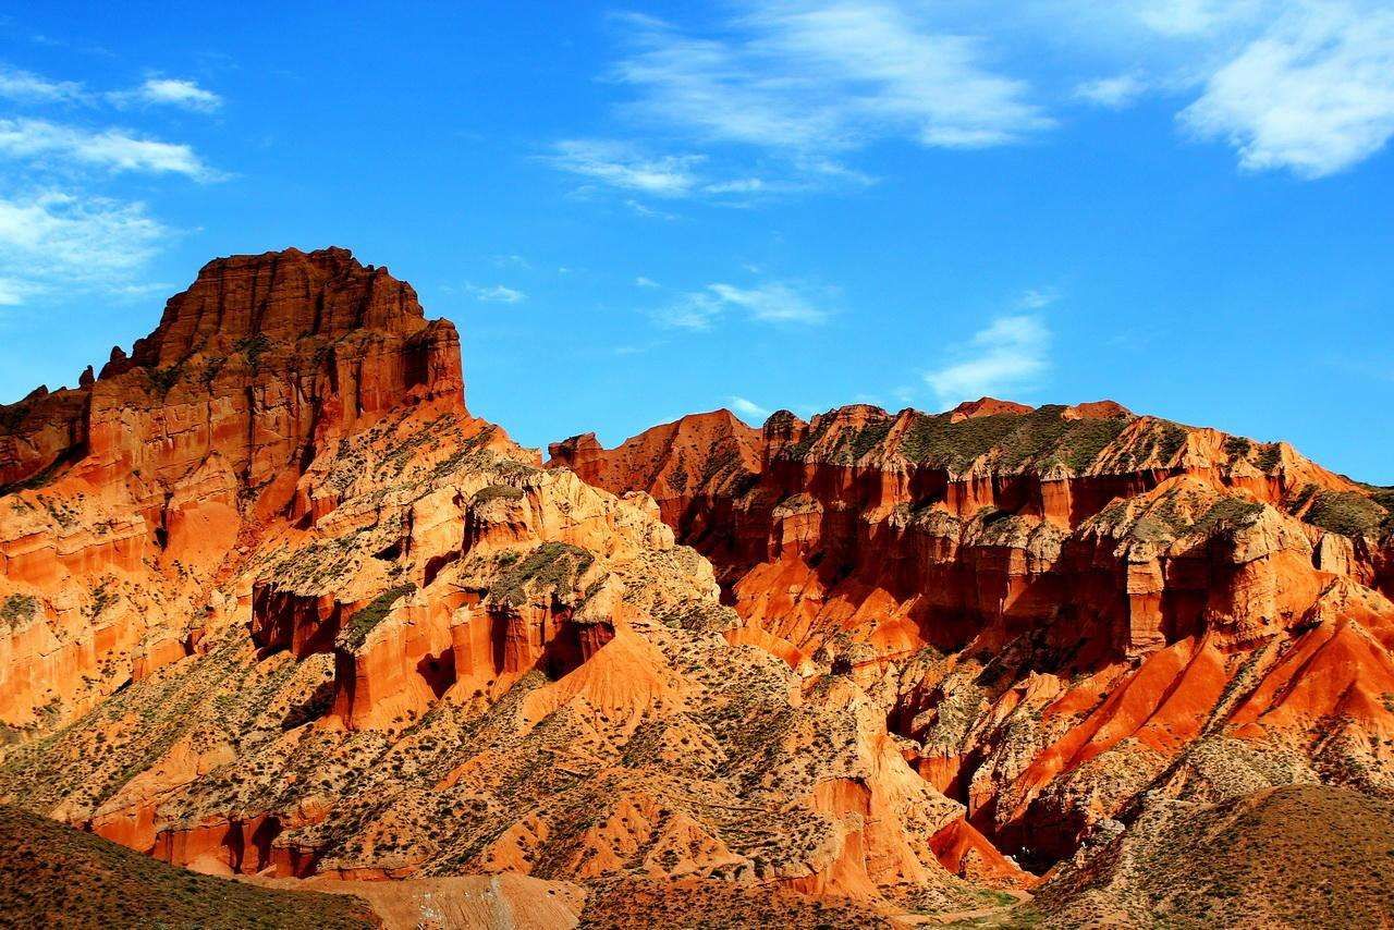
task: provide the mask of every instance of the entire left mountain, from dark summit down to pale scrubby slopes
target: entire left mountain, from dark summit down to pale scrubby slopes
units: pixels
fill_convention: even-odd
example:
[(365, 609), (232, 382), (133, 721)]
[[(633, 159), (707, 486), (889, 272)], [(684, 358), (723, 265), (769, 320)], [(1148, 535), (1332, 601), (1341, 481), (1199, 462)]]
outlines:
[[(0, 422), (0, 799), (222, 874), (856, 920), (1030, 883), (864, 676), (771, 654), (648, 494), (471, 417), (454, 329), (343, 250), (212, 262)], [(676, 443), (711, 508), (763, 449), (729, 417)]]

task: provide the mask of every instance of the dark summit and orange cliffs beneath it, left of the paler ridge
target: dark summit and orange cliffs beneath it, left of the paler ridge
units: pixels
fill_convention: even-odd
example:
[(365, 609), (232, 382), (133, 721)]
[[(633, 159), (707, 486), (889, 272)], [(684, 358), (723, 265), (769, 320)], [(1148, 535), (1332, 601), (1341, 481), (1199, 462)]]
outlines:
[[(0, 407), (0, 721), (192, 650), (307, 463), (403, 403), (464, 416), (459, 336), (342, 248), (206, 265), (100, 379)], [(325, 501), (315, 506), (326, 506)]]

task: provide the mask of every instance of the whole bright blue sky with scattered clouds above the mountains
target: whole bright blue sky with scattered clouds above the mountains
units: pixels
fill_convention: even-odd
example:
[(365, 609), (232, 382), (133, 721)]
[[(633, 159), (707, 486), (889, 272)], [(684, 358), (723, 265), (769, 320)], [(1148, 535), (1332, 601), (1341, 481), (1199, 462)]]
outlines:
[(401, 6), (0, 7), (0, 400), (337, 244), (528, 445), (1112, 397), (1394, 482), (1387, 3)]

